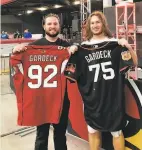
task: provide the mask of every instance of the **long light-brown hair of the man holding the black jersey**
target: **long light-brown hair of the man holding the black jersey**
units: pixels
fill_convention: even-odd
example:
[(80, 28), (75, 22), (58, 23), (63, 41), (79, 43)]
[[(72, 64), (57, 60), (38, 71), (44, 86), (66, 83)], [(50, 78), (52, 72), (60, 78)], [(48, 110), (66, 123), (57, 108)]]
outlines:
[(101, 11), (94, 11), (93, 13), (90, 14), (90, 16), (87, 19), (86, 39), (90, 40), (93, 37), (93, 33), (90, 29), (90, 21), (91, 21), (92, 16), (97, 16), (101, 20), (101, 22), (103, 24), (102, 30), (103, 30), (103, 33), (105, 34), (105, 36), (107, 36), (109, 38), (113, 37), (111, 31), (108, 28), (108, 23), (107, 23), (107, 20), (106, 20), (106, 17), (104, 16), (104, 14)]

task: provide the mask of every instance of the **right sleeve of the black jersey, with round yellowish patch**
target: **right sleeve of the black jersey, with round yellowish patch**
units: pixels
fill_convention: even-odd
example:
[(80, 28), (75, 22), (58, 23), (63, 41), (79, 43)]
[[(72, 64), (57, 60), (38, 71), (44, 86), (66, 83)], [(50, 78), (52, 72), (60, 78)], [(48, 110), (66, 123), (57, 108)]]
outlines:
[(127, 48), (122, 48), (119, 65), (120, 72), (126, 73), (132, 66), (134, 66), (134, 64), (130, 51)]

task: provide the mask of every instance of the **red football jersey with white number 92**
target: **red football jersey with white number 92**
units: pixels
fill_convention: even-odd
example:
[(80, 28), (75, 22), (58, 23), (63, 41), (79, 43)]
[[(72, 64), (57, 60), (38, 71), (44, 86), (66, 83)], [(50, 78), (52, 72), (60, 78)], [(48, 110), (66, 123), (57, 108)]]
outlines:
[(67, 48), (51, 45), (30, 45), (11, 56), (19, 125), (59, 122), (65, 89), (63, 62), (68, 57)]

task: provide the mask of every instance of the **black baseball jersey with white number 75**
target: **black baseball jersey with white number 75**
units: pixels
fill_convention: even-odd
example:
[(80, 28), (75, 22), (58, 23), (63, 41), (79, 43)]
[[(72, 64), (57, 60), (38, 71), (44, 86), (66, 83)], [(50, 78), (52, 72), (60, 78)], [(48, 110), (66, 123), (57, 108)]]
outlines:
[(118, 131), (125, 125), (124, 72), (132, 65), (129, 51), (117, 42), (82, 45), (70, 57), (65, 75), (76, 80), (89, 126)]

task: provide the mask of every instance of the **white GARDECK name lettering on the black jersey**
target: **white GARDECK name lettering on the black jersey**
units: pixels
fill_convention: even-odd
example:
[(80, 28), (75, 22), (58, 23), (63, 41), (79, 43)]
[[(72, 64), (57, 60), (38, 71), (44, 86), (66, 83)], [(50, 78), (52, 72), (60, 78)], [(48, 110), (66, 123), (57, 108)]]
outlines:
[(93, 60), (101, 59), (101, 58), (111, 58), (111, 50), (103, 50), (85, 56), (85, 59), (87, 60), (88, 63), (90, 63)]

